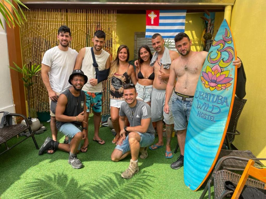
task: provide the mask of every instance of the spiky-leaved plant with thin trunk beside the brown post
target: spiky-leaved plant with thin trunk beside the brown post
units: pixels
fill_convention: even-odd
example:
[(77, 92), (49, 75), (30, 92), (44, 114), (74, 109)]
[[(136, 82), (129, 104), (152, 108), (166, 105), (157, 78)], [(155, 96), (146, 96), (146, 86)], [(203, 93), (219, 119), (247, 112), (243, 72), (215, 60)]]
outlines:
[(9, 68), (23, 75), (21, 79), (24, 82), (24, 87), (27, 90), (28, 113), (29, 113), (29, 117), (31, 117), (30, 89), (31, 89), (31, 86), (34, 84), (34, 82), (32, 81), (32, 78), (34, 76), (38, 76), (37, 73), (38, 71), (41, 70), (41, 64), (37, 66), (37, 64), (34, 63), (31, 65), (30, 69), (28, 69), (26, 64), (24, 64), (22, 68), (16, 65), (16, 63), (14, 63), (14, 65), (15, 65), (15, 68), (11, 66), (9, 66)]

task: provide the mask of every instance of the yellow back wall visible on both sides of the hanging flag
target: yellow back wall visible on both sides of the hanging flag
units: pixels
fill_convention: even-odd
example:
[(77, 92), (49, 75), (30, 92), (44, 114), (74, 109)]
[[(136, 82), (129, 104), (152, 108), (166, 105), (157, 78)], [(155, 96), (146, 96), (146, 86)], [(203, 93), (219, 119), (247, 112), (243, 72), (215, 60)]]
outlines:
[[(192, 50), (199, 51), (202, 23), (200, 18), (203, 13), (187, 14), (185, 32), (192, 40)], [(125, 44), (130, 50), (130, 60), (134, 58), (134, 32), (145, 32), (146, 15), (145, 14), (117, 14), (117, 48)]]

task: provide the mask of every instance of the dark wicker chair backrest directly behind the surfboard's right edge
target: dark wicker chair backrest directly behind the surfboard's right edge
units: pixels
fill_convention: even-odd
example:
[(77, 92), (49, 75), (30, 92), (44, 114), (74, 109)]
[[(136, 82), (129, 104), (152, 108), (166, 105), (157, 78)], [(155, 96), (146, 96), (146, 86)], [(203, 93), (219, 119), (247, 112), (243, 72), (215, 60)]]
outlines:
[(239, 131), (236, 130), (236, 126), (246, 102), (246, 99), (239, 99), (238, 97), (235, 97), (230, 121), (225, 136), (225, 142), (229, 150), (231, 150), (231, 143), (234, 141), (235, 136), (240, 135)]

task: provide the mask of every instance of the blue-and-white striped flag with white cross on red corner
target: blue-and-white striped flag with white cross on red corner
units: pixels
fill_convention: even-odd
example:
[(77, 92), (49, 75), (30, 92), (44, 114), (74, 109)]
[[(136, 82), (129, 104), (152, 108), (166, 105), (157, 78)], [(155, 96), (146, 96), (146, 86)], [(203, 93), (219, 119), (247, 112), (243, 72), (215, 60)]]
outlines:
[(159, 33), (163, 39), (185, 32), (186, 10), (146, 10), (146, 38)]

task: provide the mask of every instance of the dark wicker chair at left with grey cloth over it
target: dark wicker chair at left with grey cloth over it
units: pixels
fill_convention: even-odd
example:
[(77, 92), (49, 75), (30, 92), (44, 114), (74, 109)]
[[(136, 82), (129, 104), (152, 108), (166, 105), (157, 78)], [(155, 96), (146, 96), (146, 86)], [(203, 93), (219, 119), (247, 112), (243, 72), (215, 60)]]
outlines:
[[(0, 113), (3, 113), (3, 112), (0, 112)], [(26, 121), (26, 125), (24, 124), (15, 124), (15, 125), (10, 125), (10, 126), (4, 126), (3, 128), (0, 129), (0, 145), (5, 143), (6, 145), (6, 150), (1, 152), (1, 154), (5, 153), (6, 151), (12, 149), (14, 146), (18, 145), (19, 143), (23, 142), (24, 140), (26, 140), (27, 138), (29, 137), (32, 137), (33, 139), (33, 142), (36, 146), (36, 149), (39, 149), (39, 146), (36, 142), (36, 139), (34, 137), (34, 133), (32, 132), (31, 130), (31, 127), (30, 127), (30, 124), (29, 124), (29, 121), (28, 119), (24, 116), (24, 115), (20, 115), (20, 114), (17, 114), (17, 113), (9, 113), (10, 116), (20, 116), (20, 117), (23, 117), (24, 120)], [(15, 136), (17, 136), (19, 133), (22, 133), (23, 131), (29, 129), (30, 131), (30, 136), (28, 137), (25, 137), (24, 139), (22, 139), (21, 141), (17, 142), (15, 145), (9, 147), (7, 145), (7, 141)]]

